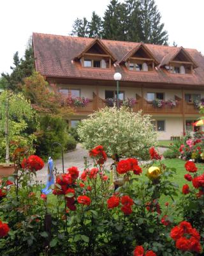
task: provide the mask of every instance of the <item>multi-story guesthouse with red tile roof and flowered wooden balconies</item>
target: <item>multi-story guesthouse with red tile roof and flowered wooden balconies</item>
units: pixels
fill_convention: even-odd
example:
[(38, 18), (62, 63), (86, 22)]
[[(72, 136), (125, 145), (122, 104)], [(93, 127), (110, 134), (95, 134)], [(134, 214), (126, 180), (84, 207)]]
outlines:
[[(152, 115), (159, 139), (193, 131), (204, 97), (204, 58), (196, 49), (33, 33), (36, 71), (76, 103), (69, 125), (117, 97)], [(84, 97), (84, 98), (83, 98)]]

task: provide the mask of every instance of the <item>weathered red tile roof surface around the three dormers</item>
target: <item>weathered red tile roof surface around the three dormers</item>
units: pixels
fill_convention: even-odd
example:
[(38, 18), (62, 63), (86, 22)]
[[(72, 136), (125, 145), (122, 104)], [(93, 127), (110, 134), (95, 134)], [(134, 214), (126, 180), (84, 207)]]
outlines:
[[(100, 41), (117, 59), (116, 67), (112, 66), (110, 69), (82, 68), (78, 61), (73, 61), (80, 52), (84, 51), (84, 49), (93, 42), (92, 38), (33, 33), (36, 70), (47, 77), (70, 77), (99, 80), (113, 80), (113, 74), (117, 70), (117, 72), (122, 74), (122, 81), (133, 81), (138, 83), (196, 84), (204, 86), (204, 58), (196, 49), (185, 49), (198, 65), (198, 68), (194, 69), (193, 74), (171, 74), (163, 69), (151, 72), (134, 72), (127, 70), (124, 65), (119, 65), (119, 61), (141, 43), (113, 40)], [(175, 52), (179, 49), (178, 47), (164, 45), (145, 44), (145, 46), (152, 52), (152, 55), (159, 61), (159, 63), (164, 61), (164, 58), (174, 56)]]

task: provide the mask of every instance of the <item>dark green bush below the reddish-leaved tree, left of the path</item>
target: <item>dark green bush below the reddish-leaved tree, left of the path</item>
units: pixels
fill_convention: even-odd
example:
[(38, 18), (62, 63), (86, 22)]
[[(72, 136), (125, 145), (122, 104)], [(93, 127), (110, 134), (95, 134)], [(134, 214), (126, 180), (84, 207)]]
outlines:
[[(63, 150), (66, 150), (69, 140), (67, 132), (67, 124), (61, 117), (56, 116), (40, 116), (40, 132), (38, 135), (36, 154), (43, 157), (48, 157), (51, 154), (51, 145), (54, 142), (59, 142)], [(61, 148), (53, 148), (53, 157), (61, 156)]]

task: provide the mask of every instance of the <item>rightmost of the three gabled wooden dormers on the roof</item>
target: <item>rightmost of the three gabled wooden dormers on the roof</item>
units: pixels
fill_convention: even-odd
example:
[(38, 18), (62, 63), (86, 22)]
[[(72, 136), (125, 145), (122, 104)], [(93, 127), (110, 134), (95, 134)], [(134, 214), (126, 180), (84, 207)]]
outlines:
[(166, 54), (159, 67), (172, 74), (192, 74), (193, 69), (198, 66), (189, 53), (183, 47), (179, 47)]

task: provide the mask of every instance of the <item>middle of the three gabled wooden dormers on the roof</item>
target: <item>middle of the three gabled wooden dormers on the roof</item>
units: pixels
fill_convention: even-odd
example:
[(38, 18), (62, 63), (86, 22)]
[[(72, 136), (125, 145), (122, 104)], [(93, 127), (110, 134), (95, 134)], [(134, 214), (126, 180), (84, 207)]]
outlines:
[(120, 61), (120, 64), (122, 63), (131, 71), (152, 71), (159, 64), (152, 52), (143, 43), (129, 51)]

